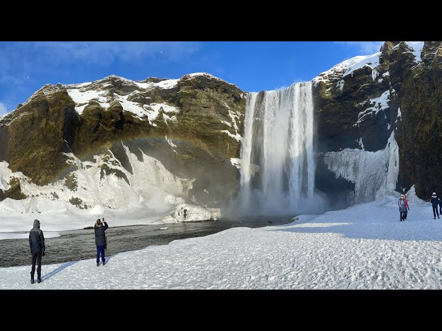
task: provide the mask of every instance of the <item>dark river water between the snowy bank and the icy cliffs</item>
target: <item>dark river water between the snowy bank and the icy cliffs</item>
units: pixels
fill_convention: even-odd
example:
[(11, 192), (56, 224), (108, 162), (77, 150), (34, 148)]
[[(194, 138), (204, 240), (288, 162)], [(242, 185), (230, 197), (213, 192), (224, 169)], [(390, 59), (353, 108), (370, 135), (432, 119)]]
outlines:
[[(150, 245), (165, 245), (176, 239), (202, 237), (229, 228), (260, 228), (290, 223), (289, 217), (219, 220), (200, 223), (133, 225), (108, 228), (106, 256), (128, 250), (140, 250)], [(169, 228), (160, 230), (160, 228)], [(41, 229), (44, 231), (44, 229)], [(60, 232), (61, 237), (45, 239), (46, 254), (42, 264), (64, 263), (95, 258), (97, 254), (93, 229)], [(31, 263), (28, 239), (0, 240), (0, 267)]]

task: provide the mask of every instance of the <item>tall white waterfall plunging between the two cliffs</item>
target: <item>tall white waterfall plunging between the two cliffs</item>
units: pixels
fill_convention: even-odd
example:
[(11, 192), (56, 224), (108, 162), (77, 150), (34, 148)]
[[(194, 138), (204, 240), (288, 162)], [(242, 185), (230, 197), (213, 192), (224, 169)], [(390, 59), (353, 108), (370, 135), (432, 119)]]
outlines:
[(240, 209), (294, 212), (314, 195), (311, 82), (249, 93), (241, 146)]

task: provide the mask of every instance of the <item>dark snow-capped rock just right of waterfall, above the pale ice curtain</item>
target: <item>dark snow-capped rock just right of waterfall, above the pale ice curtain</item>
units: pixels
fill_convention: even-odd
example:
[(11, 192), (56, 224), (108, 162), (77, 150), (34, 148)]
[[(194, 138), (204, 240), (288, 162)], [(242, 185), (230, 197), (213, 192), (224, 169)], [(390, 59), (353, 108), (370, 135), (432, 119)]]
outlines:
[(349, 59), (314, 79), (318, 152), (385, 147), (395, 92), (380, 55)]

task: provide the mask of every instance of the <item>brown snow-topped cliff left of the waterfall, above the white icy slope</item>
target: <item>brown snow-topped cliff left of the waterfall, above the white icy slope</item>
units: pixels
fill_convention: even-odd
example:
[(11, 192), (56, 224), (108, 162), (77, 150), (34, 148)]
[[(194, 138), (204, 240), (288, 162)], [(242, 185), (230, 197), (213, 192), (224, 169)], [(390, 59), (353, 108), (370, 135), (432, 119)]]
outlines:
[[(238, 169), (230, 159), (240, 154), (244, 105), (238, 87), (210, 74), (46, 85), (1, 117), (0, 161), (30, 183), (43, 187), (61, 180), (74, 192), (79, 165), (70, 162), (73, 156), (80, 163), (102, 156), (94, 165), (100, 180), (112, 174), (129, 185), (131, 175), (140, 172), (131, 157), (139, 162), (152, 157), (173, 176), (189, 179), (175, 195), (216, 207), (238, 187)], [(1, 200), (26, 197), (16, 177), (2, 179)]]

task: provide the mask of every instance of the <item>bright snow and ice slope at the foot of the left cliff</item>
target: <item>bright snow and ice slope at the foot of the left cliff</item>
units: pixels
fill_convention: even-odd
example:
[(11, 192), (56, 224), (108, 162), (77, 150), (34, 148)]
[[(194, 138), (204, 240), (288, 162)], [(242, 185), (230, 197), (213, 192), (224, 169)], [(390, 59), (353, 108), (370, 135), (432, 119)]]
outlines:
[[(67, 163), (77, 168), (70, 173), (76, 183), (71, 189), (66, 181), (39, 186), (30, 183), (21, 172), (12, 172), (8, 163), (0, 162), (0, 186), (8, 189), (10, 178), (19, 179), (27, 199), (0, 201), (0, 232), (28, 231), (39, 219), (46, 230), (81, 229), (106, 217), (113, 225), (160, 222), (183, 202), (194, 179), (180, 179), (164, 168), (160, 161), (142, 153), (143, 161), (124, 146), (133, 174), (128, 172), (111, 150), (96, 155), (95, 162), (81, 162), (66, 154)], [(102, 166), (118, 171), (102, 176)], [(161, 222), (160, 222), (161, 223)]]

